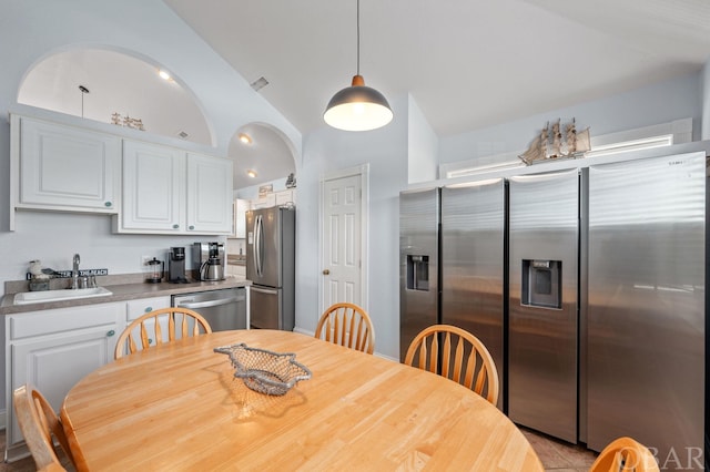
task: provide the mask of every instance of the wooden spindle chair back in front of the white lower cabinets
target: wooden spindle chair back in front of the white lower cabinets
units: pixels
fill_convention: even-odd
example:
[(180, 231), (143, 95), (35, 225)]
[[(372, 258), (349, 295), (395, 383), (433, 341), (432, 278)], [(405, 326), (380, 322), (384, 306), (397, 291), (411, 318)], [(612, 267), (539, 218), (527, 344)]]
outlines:
[[(174, 341), (189, 336), (212, 332), (206, 319), (187, 308), (161, 308), (150, 311), (131, 322), (121, 334), (115, 345), (114, 359), (148, 349), (151, 346)], [(166, 338), (166, 339), (165, 339)]]

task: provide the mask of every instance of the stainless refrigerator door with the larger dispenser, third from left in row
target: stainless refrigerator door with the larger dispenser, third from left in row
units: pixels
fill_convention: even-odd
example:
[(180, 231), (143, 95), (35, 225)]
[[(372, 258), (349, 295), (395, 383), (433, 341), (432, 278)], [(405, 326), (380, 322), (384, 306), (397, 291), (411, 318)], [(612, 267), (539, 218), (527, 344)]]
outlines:
[(579, 172), (509, 179), (508, 417), (577, 442)]

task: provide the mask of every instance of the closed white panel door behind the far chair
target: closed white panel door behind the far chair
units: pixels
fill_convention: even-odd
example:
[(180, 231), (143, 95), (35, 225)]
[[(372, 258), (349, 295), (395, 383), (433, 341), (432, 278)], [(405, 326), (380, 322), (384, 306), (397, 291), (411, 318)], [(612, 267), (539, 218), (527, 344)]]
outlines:
[(323, 182), (321, 312), (338, 301), (364, 305), (362, 178), (356, 174)]

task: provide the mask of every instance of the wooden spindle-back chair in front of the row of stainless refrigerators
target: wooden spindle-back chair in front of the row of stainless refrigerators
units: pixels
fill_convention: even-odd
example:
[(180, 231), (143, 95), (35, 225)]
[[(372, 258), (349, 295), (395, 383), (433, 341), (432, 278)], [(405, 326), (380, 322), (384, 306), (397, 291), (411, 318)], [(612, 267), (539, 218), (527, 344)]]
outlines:
[[(440, 339), (443, 349), (439, 359)], [(404, 363), (468, 387), (493, 404), (498, 402), (498, 371), (493, 358), (484, 343), (465, 329), (450, 325), (434, 325), (423, 329), (409, 343)]]

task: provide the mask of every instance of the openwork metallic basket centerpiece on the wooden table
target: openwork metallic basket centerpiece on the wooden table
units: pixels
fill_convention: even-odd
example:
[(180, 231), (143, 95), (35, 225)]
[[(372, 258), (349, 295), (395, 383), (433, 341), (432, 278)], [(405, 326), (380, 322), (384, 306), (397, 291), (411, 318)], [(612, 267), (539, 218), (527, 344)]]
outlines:
[(272, 352), (266, 349), (250, 348), (245, 343), (223, 346), (215, 352), (230, 356), (234, 377), (260, 393), (282, 396), (300, 380), (308, 380), (311, 370), (296, 362), (293, 352)]

